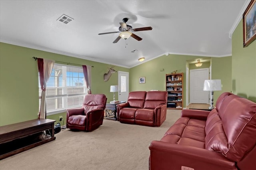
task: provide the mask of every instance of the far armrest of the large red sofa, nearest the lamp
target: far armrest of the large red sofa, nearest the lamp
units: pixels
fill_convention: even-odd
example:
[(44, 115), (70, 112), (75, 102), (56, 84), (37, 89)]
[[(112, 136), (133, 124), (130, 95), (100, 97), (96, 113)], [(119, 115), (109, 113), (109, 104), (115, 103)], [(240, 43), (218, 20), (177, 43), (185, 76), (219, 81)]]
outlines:
[(210, 111), (184, 109), (181, 111), (181, 117), (189, 117), (192, 119), (206, 120)]

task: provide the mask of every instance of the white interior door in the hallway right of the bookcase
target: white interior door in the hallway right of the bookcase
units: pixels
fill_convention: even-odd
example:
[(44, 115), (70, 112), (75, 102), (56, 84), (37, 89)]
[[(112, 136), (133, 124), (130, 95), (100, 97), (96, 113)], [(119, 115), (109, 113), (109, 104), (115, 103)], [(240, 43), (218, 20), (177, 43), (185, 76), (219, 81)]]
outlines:
[(190, 103), (209, 103), (209, 91), (203, 91), (209, 68), (190, 70)]

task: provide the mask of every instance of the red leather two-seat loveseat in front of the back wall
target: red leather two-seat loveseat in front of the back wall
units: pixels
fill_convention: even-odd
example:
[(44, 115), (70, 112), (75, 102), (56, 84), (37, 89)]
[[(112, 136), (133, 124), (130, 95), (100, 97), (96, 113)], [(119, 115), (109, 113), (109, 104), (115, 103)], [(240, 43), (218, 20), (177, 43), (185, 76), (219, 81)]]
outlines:
[(158, 126), (166, 119), (166, 91), (133, 91), (126, 103), (116, 105), (121, 123)]

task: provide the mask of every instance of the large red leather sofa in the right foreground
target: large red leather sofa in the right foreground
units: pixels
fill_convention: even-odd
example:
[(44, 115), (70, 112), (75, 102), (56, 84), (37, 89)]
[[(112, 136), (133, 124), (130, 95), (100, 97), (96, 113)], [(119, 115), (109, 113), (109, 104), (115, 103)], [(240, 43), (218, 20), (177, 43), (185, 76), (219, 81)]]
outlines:
[(226, 92), (212, 111), (182, 110), (149, 149), (150, 170), (255, 170), (256, 103)]

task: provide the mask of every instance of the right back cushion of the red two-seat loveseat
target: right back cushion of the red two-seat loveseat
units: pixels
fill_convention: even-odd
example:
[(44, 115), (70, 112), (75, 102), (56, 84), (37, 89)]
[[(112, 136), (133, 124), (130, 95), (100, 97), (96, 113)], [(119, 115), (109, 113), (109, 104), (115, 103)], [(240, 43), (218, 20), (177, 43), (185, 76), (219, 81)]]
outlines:
[(166, 105), (167, 91), (148, 91), (144, 109), (155, 109), (159, 105)]

